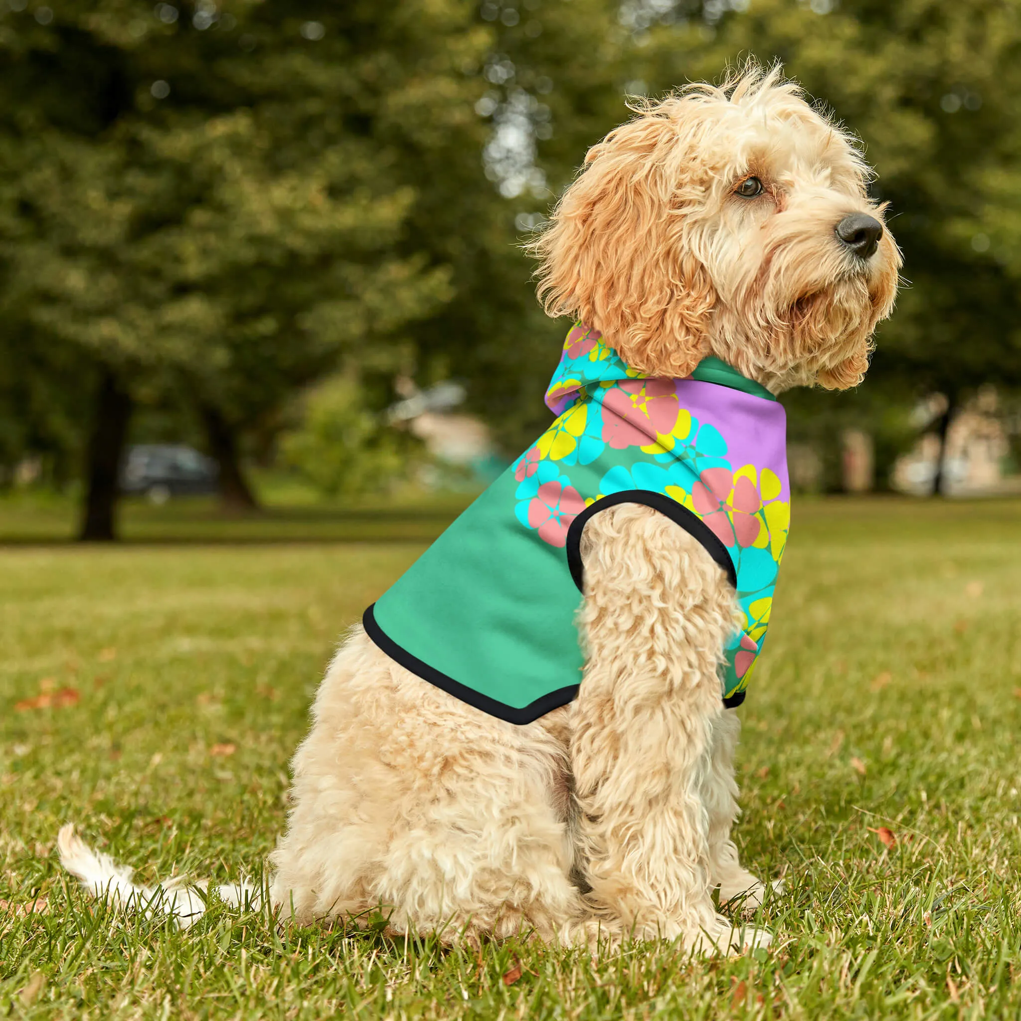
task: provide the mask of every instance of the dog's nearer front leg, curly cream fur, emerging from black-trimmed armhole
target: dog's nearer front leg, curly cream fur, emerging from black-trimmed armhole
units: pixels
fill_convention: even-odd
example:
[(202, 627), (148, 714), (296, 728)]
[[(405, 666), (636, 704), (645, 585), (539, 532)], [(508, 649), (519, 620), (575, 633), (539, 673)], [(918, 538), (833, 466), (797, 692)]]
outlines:
[(733, 590), (691, 536), (642, 505), (594, 516), (582, 557), (587, 662), (571, 755), (590, 901), (639, 938), (763, 945), (767, 933), (733, 932), (711, 897), (704, 782)]

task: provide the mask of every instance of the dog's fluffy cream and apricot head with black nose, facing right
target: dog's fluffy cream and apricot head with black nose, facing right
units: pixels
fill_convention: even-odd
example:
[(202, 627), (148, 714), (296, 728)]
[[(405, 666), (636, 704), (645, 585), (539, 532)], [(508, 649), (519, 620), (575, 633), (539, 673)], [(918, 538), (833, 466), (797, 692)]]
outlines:
[(857, 385), (901, 255), (854, 141), (779, 68), (637, 112), (531, 246), (546, 310), (652, 376), (715, 354), (775, 391)]

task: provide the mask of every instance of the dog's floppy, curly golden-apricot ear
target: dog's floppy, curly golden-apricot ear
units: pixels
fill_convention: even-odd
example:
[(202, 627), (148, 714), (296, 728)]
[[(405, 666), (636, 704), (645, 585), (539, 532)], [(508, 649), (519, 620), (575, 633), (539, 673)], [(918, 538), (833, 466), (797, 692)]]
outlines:
[(650, 376), (693, 372), (716, 303), (686, 230), (682, 104), (661, 103), (593, 146), (529, 246), (546, 312), (598, 330)]

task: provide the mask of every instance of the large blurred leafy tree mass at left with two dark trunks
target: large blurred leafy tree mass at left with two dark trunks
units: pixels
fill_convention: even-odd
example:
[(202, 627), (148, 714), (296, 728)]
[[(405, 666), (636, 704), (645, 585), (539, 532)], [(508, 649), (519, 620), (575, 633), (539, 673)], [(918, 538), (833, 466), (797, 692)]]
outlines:
[(0, 303), (6, 329), (86, 355), (84, 538), (113, 536), (139, 386), (196, 403), (225, 496), (249, 502), (239, 431), (345, 353), (393, 362), (402, 328), (450, 298), (449, 269), (400, 243), (417, 175), (379, 124), (418, 131), (436, 107), (436, 137), (464, 126), (471, 150), (479, 86), (461, 64), (487, 33), (463, 0), (386, 12), (0, 13)]

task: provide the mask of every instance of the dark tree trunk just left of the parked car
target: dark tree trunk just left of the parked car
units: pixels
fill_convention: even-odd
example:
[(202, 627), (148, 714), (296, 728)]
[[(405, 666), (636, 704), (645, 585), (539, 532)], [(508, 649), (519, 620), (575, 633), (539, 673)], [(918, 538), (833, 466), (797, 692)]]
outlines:
[(79, 533), (83, 542), (112, 542), (116, 538), (120, 460), (131, 411), (131, 394), (109, 369), (104, 369), (96, 390), (95, 418), (86, 453), (88, 489)]

